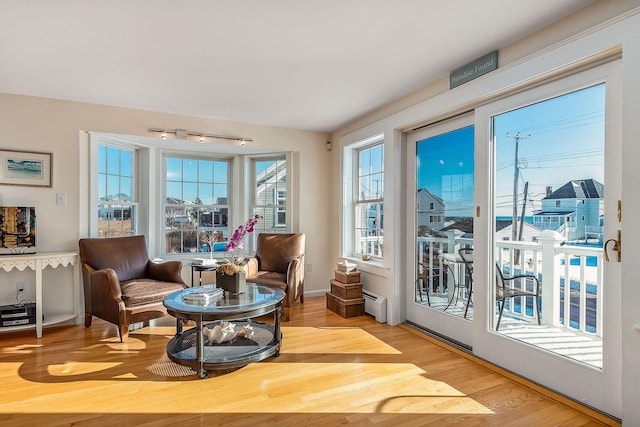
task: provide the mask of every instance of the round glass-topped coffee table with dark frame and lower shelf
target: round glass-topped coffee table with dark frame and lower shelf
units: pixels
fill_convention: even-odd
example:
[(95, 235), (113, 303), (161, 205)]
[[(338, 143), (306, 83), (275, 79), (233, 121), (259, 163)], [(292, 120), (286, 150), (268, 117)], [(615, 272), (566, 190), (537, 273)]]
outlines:
[[(208, 370), (238, 368), (280, 355), (282, 290), (247, 284), (245, 292), (225, 291), (203, 305), (185, 302), (190, 291), (193, 288), (174, 292), (164, 300), (167, 312), (177, 319), (176, 335), (167, 344), (167, 355), (173, 362), (194, 369), (200, 378), (207, 378)], [(269, 313), (273, 313), (273, 325), (252, 320)], [(196, 326), (183, 330), (185, 320), (195, 321)], [(233, 323), (236, 331), (250, 327), (253, 334), (220, 344), (204, 336), (203, 328), (211, 331), (216, 325), (224, 326), (222, 322)]]

